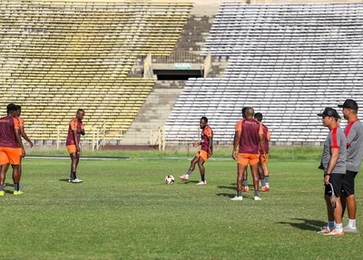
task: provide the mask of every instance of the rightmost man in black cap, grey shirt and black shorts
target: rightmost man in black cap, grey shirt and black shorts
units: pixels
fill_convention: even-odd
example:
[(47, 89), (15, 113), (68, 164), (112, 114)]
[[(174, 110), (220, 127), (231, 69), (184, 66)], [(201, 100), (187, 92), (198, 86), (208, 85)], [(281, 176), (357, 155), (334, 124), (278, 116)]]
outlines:
[(338, 105), (343, 109), (344, 119), (348, 120), (348, 125), (344, 130), (347, 138), (347, 171), (342, 182), (342, 194), (340, 197), (343, 214), (348, 207), (348, 225), (344, 226), (345, 232), (357, 233), (356, 213), (357, 204), (354, 196), (354, 179), (356, 178), (363, 156), (363, 125), (358, 120), (358, 104), (353, 100), (346, 100), (344, 104)]

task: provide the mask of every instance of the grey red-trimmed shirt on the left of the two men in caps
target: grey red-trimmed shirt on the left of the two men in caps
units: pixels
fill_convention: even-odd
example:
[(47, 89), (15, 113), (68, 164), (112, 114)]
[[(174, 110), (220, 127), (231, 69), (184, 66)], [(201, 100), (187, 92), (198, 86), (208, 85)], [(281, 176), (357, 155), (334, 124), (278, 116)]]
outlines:
[(324, 170), (328, 169), (331, 149), (339, 149), (339, 157), (332, 174), (346, 173), (346, 158), (347, 158), (347, 140), (343, 130), (339, 127), (329, 131), (327, 139), (324, 141), (324, 149), (321, 157), (321, 164)]

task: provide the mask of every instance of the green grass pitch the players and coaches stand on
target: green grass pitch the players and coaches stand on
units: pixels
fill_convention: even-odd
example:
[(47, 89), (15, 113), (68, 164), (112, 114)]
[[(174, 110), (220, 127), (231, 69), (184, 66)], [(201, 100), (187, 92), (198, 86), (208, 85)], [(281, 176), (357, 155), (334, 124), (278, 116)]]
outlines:
[[(70, 160), (24, 159), (25, 194), (0, 197), (0, 259), (360, 259), (361, 233), (316, 234), (326, 223), (318, 165), (271, 161), (262, 201), (251, 191), (231, 201), (233, 161), (208, 161), (198, 187), (198, 169), (178, 179), (186, 160), (81, 160), (84, 182), (70, 184)], [(175, 184), (163, 183), (168, 174)], [(363, 231), (361, 174), (356, 183)]]

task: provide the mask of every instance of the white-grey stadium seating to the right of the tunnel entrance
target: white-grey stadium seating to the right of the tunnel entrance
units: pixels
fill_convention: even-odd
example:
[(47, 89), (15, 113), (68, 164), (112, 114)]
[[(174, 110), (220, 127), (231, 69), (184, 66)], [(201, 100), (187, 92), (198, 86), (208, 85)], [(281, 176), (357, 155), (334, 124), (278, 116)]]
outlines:
[(166, 139), (196, 140), (207, 116), (214, 140), (231, 143), (242, 107), (251, 106), (264, 114), (273, 142), (324, 141), (318, 112), (347, 98), (363, 103), (362, 14), (362, 3), (222, 3), (202, 54), (229, 64), (221, 78), (187, 82)]

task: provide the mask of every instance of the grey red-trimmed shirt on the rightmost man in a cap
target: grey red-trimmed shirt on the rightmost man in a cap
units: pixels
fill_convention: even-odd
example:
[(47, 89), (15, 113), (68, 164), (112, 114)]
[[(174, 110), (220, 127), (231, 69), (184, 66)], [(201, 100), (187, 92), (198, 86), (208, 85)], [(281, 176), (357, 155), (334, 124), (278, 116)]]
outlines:
[(351, 121), (344, 133), (347, 138), (347, 169), (358, 172), (363, 156), (363, 124), (360, 120)]

